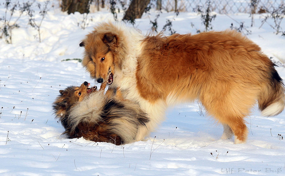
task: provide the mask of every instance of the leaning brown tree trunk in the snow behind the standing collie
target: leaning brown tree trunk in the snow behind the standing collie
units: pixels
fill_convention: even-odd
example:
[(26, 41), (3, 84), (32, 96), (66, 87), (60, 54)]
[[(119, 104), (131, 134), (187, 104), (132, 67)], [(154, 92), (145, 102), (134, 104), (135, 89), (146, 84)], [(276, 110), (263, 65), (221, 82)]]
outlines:
[(141, 18), (150, 0), (133, 0), (125, 13), (123, 20), (134, 22), (136, 18)]

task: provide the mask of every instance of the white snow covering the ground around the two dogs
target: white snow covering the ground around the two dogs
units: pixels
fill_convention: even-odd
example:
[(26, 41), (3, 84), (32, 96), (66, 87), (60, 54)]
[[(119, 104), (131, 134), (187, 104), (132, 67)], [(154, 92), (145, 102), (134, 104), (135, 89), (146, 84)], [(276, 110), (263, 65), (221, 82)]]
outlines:
[[(285, 139), (280, 139), (280, 135), (285, 136), (285, 112), (262, 117), (253, 109), (247, 118), (246, 144), (220, 140), (221, 125), (204, 110), (200, 115), (198, 103), (169, 109), (166, 120), (146, 141), (115, 146), (66, 139), (61, 135), (63, 127), (52, 114), (52, 102), (58, 90), (84, 81), (92, 84), (94, 80), (81, 63), (61, 60), (81, 58), (81, 39), (97, 22), (113, 20), (113, 15), (108, 10), (90, 13), (89, 25), (83, 30), (77, 25), (83, 19), (81, 14), (62, 13), (57, 1), (53, 2), (55, 7), (41, 26), (41, 43), (25, 17), (18, 22), (21, 27), (13, 29), (12, 44), (0, 40), (0, 175), (285, 175)], [(151, 27), (149, 20), (154, 20), (156, 14), (145, 14), (134, 26), (146, 34)], [(162, 13), (158, 31), (166, 19), (174, 16)], [(254, 16), (254, 27), (247, 28), (252, 34), (247, 37), (284, 64), (285, 37), (275, 35), (266, 23), (259, 29), (260, 16)], [(93, 21), (89, 21), (91, 17)], [(230, 17), (250, 26), (249, 14)], [(225, 30), (231, 23), (239, 26), (230, 17), (217, 14), (213, 29)], [(173, 29), (195, 34), (191, 22), (204, 30), (199, 15), (182, 12), (175, 17)], [(281, 27), (285, 30), (284, 22)], [(285, 79), (285, 68), (277, 70)]]

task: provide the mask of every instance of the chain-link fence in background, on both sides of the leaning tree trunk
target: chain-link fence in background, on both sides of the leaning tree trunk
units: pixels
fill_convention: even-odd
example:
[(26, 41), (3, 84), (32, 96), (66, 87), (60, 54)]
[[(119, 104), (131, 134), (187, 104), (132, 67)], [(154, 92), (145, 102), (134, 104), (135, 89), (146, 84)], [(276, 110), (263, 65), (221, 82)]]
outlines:
[[(99, 5), (101, 0), (97, 1), (96, 6)], [(118, 9), (123, 9), (122, 4), (125, 4), (124, 8), (126, 9), (131, 0), (105, 0), (107, 7), (110, 7), (111, 1), (116, 2), (116, 8)], [(253, 1), (256, 2), (255, 12), (253, 13), (264, 13), (265, 9), (271, 11), (273, 8), (285, 3), (285, 0), (152, 0), (151, 7), (161, 8), (168, 12), (176, 10), (179, 12), (194, 12), (197, 6), (201, 10), (205, 10), (208, 7), (208, 1), (210, 1), (210, 10), (220, 14), (251, 13)]]

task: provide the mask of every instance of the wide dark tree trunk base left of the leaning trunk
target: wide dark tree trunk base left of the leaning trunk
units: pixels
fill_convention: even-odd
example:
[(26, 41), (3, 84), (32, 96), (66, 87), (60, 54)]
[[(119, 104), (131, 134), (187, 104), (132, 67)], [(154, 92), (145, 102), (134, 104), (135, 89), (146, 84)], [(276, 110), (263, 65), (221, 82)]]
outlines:
[(89, 13), (90, 0), (62, 0), (61, 10), (67, 11), (68, 14), (79, 12)]

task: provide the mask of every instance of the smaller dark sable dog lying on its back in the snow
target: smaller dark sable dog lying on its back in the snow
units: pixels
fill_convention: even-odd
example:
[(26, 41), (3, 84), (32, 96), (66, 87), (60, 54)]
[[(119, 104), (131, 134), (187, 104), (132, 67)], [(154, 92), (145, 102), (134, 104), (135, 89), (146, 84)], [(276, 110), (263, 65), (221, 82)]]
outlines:
[(130, 101), (107, 98), (96, 86), (70, 86), (60, 90), (53, 103), (56, 117), (69, 138), (112, 142), (116, 145), (134, 142), (138, 127), (149, 121), (146, 113)]

